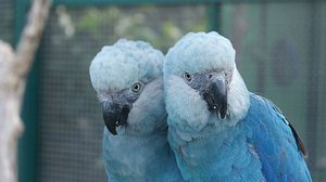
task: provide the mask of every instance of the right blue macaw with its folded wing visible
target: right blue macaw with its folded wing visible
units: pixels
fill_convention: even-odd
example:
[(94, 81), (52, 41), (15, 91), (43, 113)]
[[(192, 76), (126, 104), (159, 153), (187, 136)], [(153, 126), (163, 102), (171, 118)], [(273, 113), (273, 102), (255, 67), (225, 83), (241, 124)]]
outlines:
[(163, 69), (168, 142), (185, 180), (312, 181), (296, 130), (247, 90), (228, 39), (189, 32)]

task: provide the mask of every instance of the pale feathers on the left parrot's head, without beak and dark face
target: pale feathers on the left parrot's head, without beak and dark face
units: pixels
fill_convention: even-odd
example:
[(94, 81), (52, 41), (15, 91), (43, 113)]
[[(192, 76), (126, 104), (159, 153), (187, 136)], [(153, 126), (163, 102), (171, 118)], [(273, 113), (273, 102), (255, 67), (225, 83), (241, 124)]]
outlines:
[(91, 62), (90, 80), (101, 101), (113, 92), (130, 89), (137, 81), (143, 83), (128, 115), (128, 125), (118, 127), (118, 134), (145, 134), (166, 126), (163, 60), (163, 54), (149, 43), (122, 39), (103, 47)]

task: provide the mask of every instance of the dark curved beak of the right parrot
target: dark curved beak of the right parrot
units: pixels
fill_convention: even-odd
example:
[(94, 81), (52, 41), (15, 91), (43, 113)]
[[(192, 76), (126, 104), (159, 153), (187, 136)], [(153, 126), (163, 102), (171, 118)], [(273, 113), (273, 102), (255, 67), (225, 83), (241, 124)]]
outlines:
[(227, 87), (224, 79), (214, 79), (202, 93), (211, 112), (223, 119), (227, 113)]

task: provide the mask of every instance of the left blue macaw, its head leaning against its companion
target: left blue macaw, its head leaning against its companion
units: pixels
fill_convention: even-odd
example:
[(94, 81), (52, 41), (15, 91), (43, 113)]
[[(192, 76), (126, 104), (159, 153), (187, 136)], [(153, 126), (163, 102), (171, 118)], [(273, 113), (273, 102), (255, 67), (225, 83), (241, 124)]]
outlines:
[(110, 182), (183, 181), (167, 143), (163, 60), (149, 43), (122, 39), (103, 47), (91, 62)]

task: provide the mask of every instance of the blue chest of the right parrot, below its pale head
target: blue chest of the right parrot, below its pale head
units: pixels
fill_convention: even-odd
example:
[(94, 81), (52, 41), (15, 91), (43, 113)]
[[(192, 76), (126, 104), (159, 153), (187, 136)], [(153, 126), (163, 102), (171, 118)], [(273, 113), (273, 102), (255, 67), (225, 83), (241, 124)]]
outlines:
[(175, 146), (183, 173), (193, 181), (263, 179), (258, 155), (239, 129), (203, 134)]

